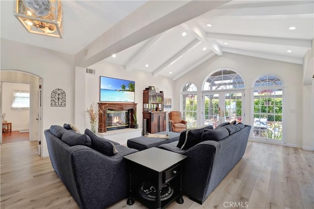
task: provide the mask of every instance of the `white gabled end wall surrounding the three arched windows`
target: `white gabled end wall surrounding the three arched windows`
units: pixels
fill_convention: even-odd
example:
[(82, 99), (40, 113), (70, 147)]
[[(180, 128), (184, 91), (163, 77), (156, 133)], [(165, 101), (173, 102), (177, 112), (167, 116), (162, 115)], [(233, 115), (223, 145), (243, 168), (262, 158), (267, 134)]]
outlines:
[[(201, 92), (206, 77), (214, 70), (220, 68), (231, 68), (239, 73), (245, 83), (245, 113), (243, 122), (251, 124), (252, 107), (251, 94), (252, 85), (256, 78), (265, 73), (278, 75), (284, 82), (284, 141), (287, 145), (302, 147), (302, 66), (254, 57), (224, 53), (223, 56), (214, 56), (194, 70), (185, 74), (175, 81), (175, 92), (180, 92), (183, 84), (192, 82)], [(199, 103), (201, 101), (198, 101)], [(175, 109), (180, 109), (180, 94), (175, 94)], [(199, 113), (200, 115), (200, 113)], [(309, 115), (308, 115), (309, 116)], [(310, 115), (311, 117), (313, 115)]]

